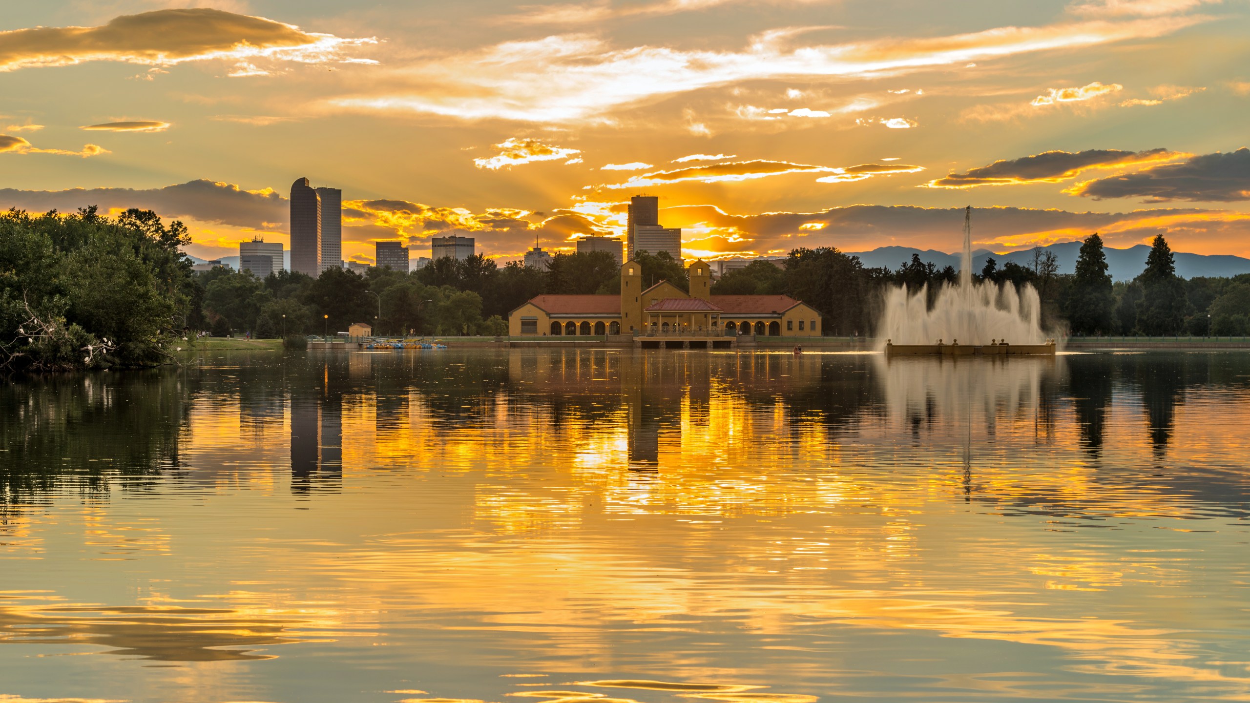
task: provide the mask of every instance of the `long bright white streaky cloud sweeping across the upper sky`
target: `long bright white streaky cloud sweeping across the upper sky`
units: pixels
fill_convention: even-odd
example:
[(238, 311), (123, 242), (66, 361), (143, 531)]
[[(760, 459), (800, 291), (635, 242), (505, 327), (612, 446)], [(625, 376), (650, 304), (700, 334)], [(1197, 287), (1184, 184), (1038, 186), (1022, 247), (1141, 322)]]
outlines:
[[(1206, 19), (1185, 15), (1091, 20), (834, 45), (801, 44), (804, 30), (780, 29), (751, 38), (738, 51), (619, 49), (598, 35), (562, 34), (420, 61), (394, 73), (386, 88), (336, 98), (330, 105), (460, 119), (604, 120), (604, 115), (625, 105), (710, 86), (801, 76), (828, 80), (902, 75), (975, 60), (1162, 36)], [(650, 78), (661, 75), (664, 80)], [(402, 83), (409, 88), (391, 88)]]

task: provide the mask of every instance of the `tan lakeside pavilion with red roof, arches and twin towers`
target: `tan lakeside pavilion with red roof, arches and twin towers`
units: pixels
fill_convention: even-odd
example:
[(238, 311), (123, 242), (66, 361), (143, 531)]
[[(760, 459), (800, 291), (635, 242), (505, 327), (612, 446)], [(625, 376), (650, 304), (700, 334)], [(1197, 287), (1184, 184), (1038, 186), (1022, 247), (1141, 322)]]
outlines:
[(642, 269), (621, 266), (620, 295), (539, 295), (509, 314), (510, 335), (591, 335), (631, 330), (724, 330), (726, 334), (819, 336), (820, 315), (788, 295), (712, 295), (711, 266), (695, 261), (690, 291), (669, 281), (642, 288)]

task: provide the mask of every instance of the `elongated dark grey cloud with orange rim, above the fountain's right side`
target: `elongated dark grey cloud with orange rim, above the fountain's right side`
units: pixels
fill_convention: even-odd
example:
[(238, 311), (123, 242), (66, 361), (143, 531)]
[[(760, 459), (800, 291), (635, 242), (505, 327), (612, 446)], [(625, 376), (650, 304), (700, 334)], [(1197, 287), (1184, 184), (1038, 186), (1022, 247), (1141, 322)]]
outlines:
[(1089, 149), (1085, 151), (1042, 151), (1020, 159), (1002, 159), (968, 173), (951, 173), (931, 180), (928, 188), (976, 188), (980, 185), (1019, 185), (1025, 183), (1059, 183), (1076, 178), (1091, 169), (1122, 169), (1150, 166), (1190, 154), (1150, 149), (1148, 151), (1121, 151), (1119, 149)]

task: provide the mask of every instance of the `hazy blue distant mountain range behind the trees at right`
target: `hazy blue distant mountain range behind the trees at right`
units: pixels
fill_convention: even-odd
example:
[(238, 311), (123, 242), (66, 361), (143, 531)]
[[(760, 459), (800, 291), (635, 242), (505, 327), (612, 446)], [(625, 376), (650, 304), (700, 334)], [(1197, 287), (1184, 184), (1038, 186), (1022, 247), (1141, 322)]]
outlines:
[[(1059, 273), (1071, 274), (1076, 271), (1076, 256), (1081, 250), (1080, 241), (1064, 241), (1042, 246), (1042, 249), (1054, 253), (1059, 258)], [(1150, 246), (1145, 244), (1138, 244), (1128, 249), (1111, 249), (1108, 246), (1102, 251), (1106, 254), (1106, 264), (1112, 279), (1132, 280), (1146, 268), (1146, 256), (1150, 254)], [(911, 254), (919, 254), (921, 261), (931, 261), (939, 269), (954, 266), (958, 270), (960, 259), (960, 254), (946, 254), (932, 249), (911, 249), (909, 246), (881, 246), (871, 251), (848, 251), (846, 254), (859, 256), (860, 261), (868, 268), (886, 266), (889, 269), (898, 269), (905, 261), (910, 261)], [(1021, 266), (1031, 265), (1032, 263), (1032, 250), (1030, 249), (1011, 251), (1010, 254), (995, 254), (986, 249), (978, 249), (972, 251), (972, 270), (979, 273), (985, 268), (985, 261), (990, 256), (998, 261), (999, 268), (1002, 268), (1002, 264), (1008, 261), (1014, 261)], [(1176, 275), (1181, 278), (1250, 274), (1250, 259), (1242, 256), (1228, 254), (1185, 254), (1176, 251), (1175, 258)]]

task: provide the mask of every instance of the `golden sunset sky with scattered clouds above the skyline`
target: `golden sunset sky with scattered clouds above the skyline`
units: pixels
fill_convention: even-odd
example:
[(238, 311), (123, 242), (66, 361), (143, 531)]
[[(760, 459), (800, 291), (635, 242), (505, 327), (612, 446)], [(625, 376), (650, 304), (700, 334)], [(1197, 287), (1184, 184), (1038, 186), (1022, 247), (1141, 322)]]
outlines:
[(1100, 231), (1250, 256), (1248, 0), (64, 0), (0, 14), (0, 206), (289, 241), (620, 234), (688, 256), (1009, 250)]

